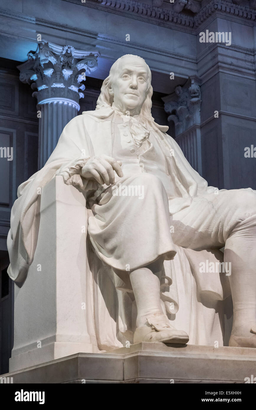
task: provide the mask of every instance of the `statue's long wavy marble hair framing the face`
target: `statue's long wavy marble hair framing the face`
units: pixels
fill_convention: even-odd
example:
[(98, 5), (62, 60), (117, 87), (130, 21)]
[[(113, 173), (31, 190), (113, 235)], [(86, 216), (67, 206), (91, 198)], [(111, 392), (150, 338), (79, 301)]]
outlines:
[[(104, 107), (109, 108), (109, 107), (112, 106), (112, 103), (113, 103), (114, 99), (113, 99), (113, 96), (110, 96), (109, 89), (111, 87), (111, 83), (112, 83), (112, 79), (113, 79), (113, 75), (114, 75), (114, 70), (118, 66), (119, 61), (122, 58), (127, 57), (127, 56), (134, 57), (136, 59), (141, 59), (146, 64), (145, 60), (142, 57), (139, 57), (139, 56), (133, 55), (133, 54), (126, 54), (126, 55), (123, 55), (122, 57), (120, 57), (119, 59), (117, 59), (117, 61), (114, 62), (114, 64), (110, 68), (109, 76), (103, 81), (103, 84), (102, 84), (102, 87), (101, 87), (101, 93), (100, 93), (100, 95), (98, 97), (98, 100), (97, 100), (96, 109), (100, 109), (100, 108), (104, 108)], [(142, 109), (141, 109), (140, 113), (146, 121), (154, 121), (154, 118), (151, 115), (151, 107), (152, 107), (151, 97), (153, 95), (153, 88), (151, 86), (151, 71), (150, 71), (150, 68), (147, 64), (146, 64), (146, 66), (147, 66), (148, 71), (149, 71), (149, 88), (147, 89), (146, 100), (144, 101), (144, 103), (142, 105)]]

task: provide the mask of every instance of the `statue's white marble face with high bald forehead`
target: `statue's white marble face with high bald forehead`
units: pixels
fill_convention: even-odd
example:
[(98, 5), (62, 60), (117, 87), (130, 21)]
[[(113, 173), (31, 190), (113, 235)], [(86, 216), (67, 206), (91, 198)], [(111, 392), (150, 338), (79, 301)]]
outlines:
[(114, 72), (110, 93), (122, 112), (139, 114), (149, 88), (149, 71), (139, 59), (124, 57)]

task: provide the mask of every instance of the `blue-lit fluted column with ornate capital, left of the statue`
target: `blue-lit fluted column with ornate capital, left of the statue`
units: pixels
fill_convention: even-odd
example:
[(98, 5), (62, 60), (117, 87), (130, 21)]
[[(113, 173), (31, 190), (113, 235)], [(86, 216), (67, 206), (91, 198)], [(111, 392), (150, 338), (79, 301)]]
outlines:
[(71, 46), (40, 41), (36, 51), (30, 51), (25, 63), (18, 66), (20, 80), (31, 84), (38, 100), (39, 169), (43, 167), (57, 145), (65, 125), (79, 109), (79, 99), (86, 80), (85, 73), (97, 68), (99, 52), (75, 50)]

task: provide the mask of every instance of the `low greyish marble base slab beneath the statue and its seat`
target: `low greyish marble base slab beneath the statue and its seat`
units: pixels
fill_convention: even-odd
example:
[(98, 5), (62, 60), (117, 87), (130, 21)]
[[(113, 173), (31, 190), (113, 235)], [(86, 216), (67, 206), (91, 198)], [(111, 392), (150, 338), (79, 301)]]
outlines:
[(2, 376), (13, 383), (245, 383), (256, 349), (137, 343), (108, 353), (76, 353)]

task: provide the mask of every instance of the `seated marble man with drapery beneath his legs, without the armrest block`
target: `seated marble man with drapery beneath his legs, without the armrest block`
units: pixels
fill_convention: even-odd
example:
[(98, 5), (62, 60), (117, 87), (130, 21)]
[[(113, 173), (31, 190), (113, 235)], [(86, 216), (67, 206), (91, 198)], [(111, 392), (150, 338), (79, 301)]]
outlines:
[[(230, 293), (229, 346), (256, 347), (256, 191), (208, 187), (155, 123), (152, 93), (144, 59), (112, 65), (96, 110), (73, 118), (46, 165), (18, 188), (9, 276), (23, 286), (37, 246), (38, 187), (61, 175), (87, 201), (99, 350), (126, 340), (223, 345)], [(206, 273), (206, 262), (229, 269)]]

